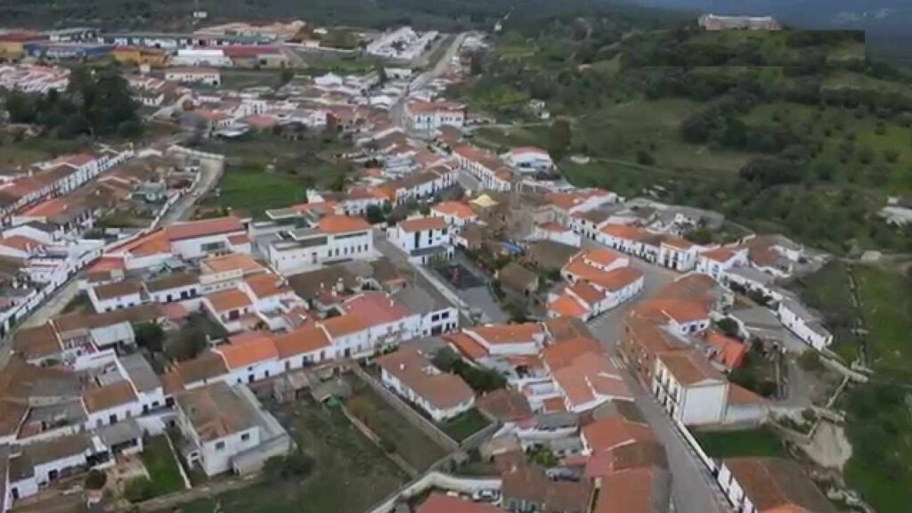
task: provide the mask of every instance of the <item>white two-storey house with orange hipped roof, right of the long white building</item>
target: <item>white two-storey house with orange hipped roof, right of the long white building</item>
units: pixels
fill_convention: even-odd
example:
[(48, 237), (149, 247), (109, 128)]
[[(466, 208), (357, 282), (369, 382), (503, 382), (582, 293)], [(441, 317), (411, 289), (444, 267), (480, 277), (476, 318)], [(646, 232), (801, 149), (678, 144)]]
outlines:
[(442, 217), (414, 217), (389, 228), (389, 242), (409, 256), (412, 264), (450, 260), (450, 229)]

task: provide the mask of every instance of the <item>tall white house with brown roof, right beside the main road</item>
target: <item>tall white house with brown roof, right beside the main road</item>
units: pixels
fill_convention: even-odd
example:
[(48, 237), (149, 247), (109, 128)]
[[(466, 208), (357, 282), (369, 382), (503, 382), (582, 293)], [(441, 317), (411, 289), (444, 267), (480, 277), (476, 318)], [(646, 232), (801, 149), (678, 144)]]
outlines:
[(656, 359), (652, 392), (681, 424), (719, 424), (725, 418), (729, 382), (700, 352), (670, 351)]

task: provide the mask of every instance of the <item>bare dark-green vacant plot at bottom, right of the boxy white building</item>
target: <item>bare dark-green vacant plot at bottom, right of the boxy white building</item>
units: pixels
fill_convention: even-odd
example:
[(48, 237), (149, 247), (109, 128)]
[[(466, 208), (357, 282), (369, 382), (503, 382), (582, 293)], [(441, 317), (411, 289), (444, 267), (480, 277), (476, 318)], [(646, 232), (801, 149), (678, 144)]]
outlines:
[(182, 513), (365, 511), (406, 481), (397, 466), (343, 414), (299, 402), (276, 414), (314, 461), (302, 481), (263, 482), (180, 508)]

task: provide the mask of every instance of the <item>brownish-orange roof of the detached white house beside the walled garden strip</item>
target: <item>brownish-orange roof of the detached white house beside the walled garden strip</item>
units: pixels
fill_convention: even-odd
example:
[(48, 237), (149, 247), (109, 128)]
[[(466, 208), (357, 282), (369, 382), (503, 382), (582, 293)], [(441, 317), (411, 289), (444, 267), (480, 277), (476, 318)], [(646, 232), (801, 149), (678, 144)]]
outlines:
[(381, 356), (377, 364), (440, 410), (465, 403), (475, 396), (461, 377), (440, 372), (415, 348), (400, 349)]

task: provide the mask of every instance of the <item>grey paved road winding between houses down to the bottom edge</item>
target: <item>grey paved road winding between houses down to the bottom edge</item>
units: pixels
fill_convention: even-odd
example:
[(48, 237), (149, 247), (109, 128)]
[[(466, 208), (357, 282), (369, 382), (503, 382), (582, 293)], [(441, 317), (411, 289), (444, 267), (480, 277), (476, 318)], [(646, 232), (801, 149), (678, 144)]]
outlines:
[[(594, 245), (586, 243), (586, 246)], [(589, 323), (589, 327), (598, 340), (601, 340), (606, 347), (611, 360), (622, 367), (624, 367), (623, 362), (617, 353), (617, 340), (620, 340), (623, 333), (622, 319), (637, 301), (655, 295), (658, 290), (679, 276), (664, 267), (653, 266), (642, 260), (631, 258), (630, 263), (633, 267), (643, 271), (646, 277), (644, 290), (639, 298), (613, 309)], [(636, 396), (637, 406), (643, 412), (658, 439), (665, 445), (668, 453), (668, 466), (672, 475), (672, 497), (676, 513), (729, 511), (719, 487), (716, 486), (698, 456), (690, 450), (688, 443), (672, 424), (668, 414), (658, 406), (652, 394), (640, 386), (631, 372), (625, 372), (625, 378)]]

